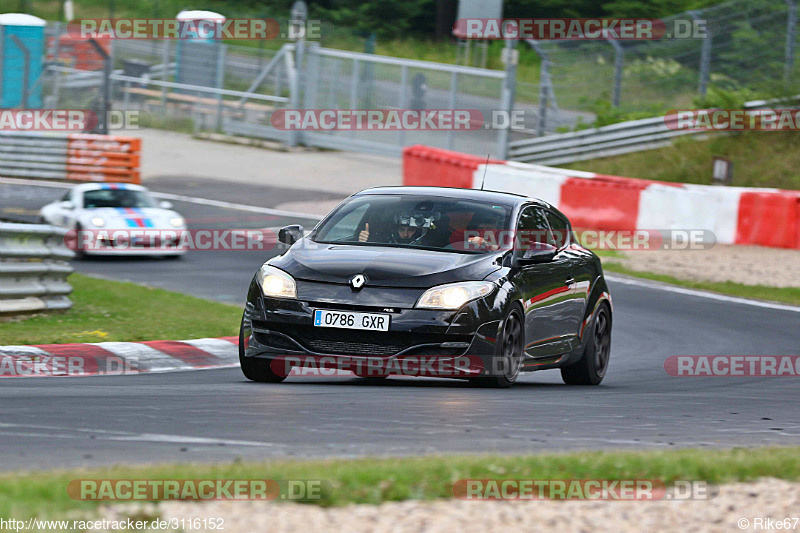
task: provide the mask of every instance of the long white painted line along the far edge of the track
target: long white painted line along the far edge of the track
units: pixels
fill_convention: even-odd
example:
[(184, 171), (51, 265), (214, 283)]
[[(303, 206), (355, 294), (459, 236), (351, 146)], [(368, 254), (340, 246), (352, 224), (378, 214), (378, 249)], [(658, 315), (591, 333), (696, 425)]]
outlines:
[[(54, 183), (54, 182), (43, 182), (38, 180), (27, 180), (27, 179), (18, 179), (18, 178), (0, 178), (0, 183), (8, 183), (9, 185), (36, 185), (39, 187), (55, 187), (60, 189), (69, 189), (74, 187), (73, 184), (69, 183)], [(297, 211), (283, 211), (280, 209), (271, 209), (269, 207), (258, 207), (254, 205), (244, 205), (244, 204), (237, 204), (233, 202), (223, 202), (220, 200), (210, 200), (208, 198), (196, 198), (194, 196), (182, 196), (179, 194), (168, 194), (168, 193), (157, 193), (154, 192), (153, 196), (158, 198), (165, 198), (168, 200), (175, 200), (178, 202), (189, 202), (199, 205), (209, 205), (213, 207), (225, 207), (228, 209), (238, 209), (240, 211), (250, 211), (253, 213), (264, 213), (269, 215), (279, 215), (279, 216), (288, 216), (288, 217), (297, 217), (297, 218), (306, 218), (312, 220), (322, 220), (322, 217), (319, 215), (311, 215), (308, 213), (298, 213)], [(736, 296), (725, 296), (724, 294), (717, 294), (713, 292), (707, 291), (700, 291), (696, 289), (687, 289), (684, 287), (676, 287), (674, 285), (667, 285), (665, 283), (657, 283), (652, 281), (640, 281), (638, 279), (633, 278), (624, 278), (618, 276), (608, 276), (606, 275), (606, 279), (613, 281), (615, 283), (621, 283), (624, 285), (634, 285), (636, 287), (644, 287), (647, 289), (653, 289), (658, 291), (665, 291), (665, 292), (672, 292), (675, 294), (685, 294), (688, 296), (697, 296), (699, 298), (708, 298), (710, 300), (717, 300), (720, 302), (729, 302), (729, 303), (736, 303), (742, 305), (750, 305), (753, 307), (763, 307), (766, 309), (777, 309), (780, 311), (791, 311), (794, 313), (800, 313), (800, 307), (795, 307), (792, 305), (784, 305), (778, 303), (771, 303), (771, 302), (761, 302), (759, 300), (749, 300), (747, 298), (738, 298)]]

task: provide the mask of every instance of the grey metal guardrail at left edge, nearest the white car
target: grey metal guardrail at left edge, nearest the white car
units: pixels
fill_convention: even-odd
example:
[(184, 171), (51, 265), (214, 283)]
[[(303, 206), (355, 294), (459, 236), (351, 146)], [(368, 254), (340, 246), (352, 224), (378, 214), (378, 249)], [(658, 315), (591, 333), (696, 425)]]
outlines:
[(69, 309), (67, 230), (0, 222), (0, 315)]

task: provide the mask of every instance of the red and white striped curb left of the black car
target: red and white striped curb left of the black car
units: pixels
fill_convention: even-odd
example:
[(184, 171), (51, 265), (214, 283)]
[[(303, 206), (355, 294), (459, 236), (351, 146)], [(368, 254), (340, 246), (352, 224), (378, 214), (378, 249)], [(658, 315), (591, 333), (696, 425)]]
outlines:
[(239, 365), (237, 337), (0, 346), (0, 378), (122, 375)]

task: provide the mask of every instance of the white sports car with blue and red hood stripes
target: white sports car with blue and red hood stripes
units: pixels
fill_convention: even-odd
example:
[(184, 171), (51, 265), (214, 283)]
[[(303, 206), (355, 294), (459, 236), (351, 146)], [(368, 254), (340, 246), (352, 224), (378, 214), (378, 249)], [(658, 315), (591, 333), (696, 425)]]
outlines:
[(70, 230), (67, 244), (78, 254), (156, 255), (186, 253), (186, 221), (170, 202), (156, 202), (148, 190), (125, 183), (89, 183), (47, 204), (41, 222)]

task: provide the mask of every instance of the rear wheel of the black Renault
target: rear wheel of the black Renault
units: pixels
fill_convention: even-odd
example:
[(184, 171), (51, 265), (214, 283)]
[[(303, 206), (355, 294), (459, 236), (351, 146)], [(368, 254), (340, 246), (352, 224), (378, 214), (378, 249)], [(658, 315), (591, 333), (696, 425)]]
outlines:
[(599, 385), (606, 375), (611, 356), (611, 311), (606, 304), (598, 309), (591, 331), (581, 358), (561, 369), (567, 385)]

